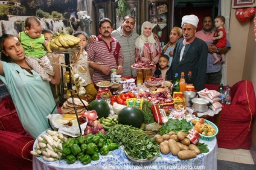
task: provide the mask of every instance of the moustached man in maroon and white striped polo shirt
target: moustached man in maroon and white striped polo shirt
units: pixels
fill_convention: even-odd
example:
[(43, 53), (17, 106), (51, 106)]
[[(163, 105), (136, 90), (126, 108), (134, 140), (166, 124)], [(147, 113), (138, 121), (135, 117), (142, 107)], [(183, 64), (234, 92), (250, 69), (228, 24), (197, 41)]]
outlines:
[[(98, 30), (100, 34), (87, 48), (88, 60), (94, 62), (89, 63), (89, 67), (94, 69), (94, 84), (104, 80), (110, 81), (111, 69), (117, 69), (117, 74), (123, 74), (124, 55), (118, 40), (111, 36), (111, 20), (106, 17), (101, 19)], [(103, 64), (99, 65), (97, 62)]]

